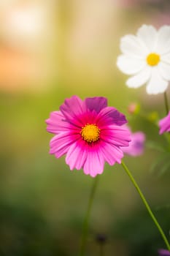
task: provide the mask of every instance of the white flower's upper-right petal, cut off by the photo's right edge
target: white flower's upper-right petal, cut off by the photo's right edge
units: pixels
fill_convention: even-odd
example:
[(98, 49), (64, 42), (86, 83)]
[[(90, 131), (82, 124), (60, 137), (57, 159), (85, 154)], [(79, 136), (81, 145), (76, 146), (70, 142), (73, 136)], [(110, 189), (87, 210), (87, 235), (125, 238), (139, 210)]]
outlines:
[(156, 51), (158, 53), (168, 53), (170, 50), (170, 26), (162, 26), (158, 31), (158, 41)]

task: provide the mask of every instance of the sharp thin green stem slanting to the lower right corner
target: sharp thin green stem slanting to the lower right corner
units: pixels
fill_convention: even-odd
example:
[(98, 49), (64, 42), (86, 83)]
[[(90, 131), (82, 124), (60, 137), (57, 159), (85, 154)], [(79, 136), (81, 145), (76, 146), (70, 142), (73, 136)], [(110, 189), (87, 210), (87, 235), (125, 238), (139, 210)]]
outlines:
[(131, 179), (132, 183), (134, 184), (134, 187), (136, 187), (136, 190), (139, 193), (139, 196), (141, 197), (141, 199), (144, 203), (144, 206), (147, 208), (147, 211), (149, 212), (150, 217), (152, 218), (152, 221), (155, 223), (156, 227), (158, 228), (159, 232), (161, 233), (161, 236), (162, 236), (163, 241), (165, 242), (165, 244), (167, 246), (167, 249), (169, 249), (169, 251), (170, 251), (169, 241), (166, 238), (165, 234), (163, 233), (163, 230), (162, 230), (161, 226), (159, 225), (157, 219), (155, 218), (154, 214), (152, 213), (152, 210), (151, 210), (150, 206), (148, 205), (147, 200), (145, 199), (141, 189), (139, 188), (138, 184), (136, 183), (134, 177), (132, 176), (130, 170), (128, 170), (128, 167), (125, 165), (125, 163), (122, 162), (121, 165), (123, 166), (125, 172), (128, 174), (129, 178)]

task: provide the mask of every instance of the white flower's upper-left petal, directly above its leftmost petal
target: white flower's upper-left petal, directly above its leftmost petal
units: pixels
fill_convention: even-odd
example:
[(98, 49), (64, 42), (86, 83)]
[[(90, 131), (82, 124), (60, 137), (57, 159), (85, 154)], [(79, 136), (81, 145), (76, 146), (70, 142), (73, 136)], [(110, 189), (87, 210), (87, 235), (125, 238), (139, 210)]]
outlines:
[(125, 55), (134, 56), (139, 59), (145, 59), (145, 56), (149, 53), (141, 40), (132, 34), (121, 38), (120, 50), (122, 50)]

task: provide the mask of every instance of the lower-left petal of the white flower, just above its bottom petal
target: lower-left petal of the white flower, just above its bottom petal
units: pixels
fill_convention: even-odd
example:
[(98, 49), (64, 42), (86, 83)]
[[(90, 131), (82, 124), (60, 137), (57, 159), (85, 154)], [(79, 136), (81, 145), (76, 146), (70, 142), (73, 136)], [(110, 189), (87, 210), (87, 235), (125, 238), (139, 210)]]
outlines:
[(142, 86), (147, 80), (150, 79), (150, 67), (145, 67), (137, 75), (134, 75), (132, 78), (128, 78), (126, 85), (130, 88), (138, 88)]

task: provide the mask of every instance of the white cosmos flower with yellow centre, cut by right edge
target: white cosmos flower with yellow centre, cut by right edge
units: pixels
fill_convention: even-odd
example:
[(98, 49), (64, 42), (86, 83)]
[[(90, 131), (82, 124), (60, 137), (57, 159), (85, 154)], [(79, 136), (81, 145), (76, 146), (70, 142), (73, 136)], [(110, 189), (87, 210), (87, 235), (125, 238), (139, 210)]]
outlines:
[(170, 26), (157, 31), (143, 25), (136, 36), (122, 37), (120, 50), (123, 54), (117, 58), (117, 67), (131, 75), (126, 81), (128, 87), (138, 88), (146, 83), (148, 94), (166, 91), (170, 80)]

